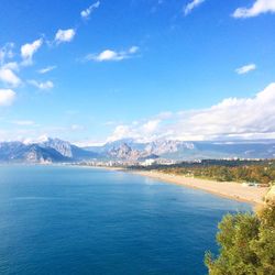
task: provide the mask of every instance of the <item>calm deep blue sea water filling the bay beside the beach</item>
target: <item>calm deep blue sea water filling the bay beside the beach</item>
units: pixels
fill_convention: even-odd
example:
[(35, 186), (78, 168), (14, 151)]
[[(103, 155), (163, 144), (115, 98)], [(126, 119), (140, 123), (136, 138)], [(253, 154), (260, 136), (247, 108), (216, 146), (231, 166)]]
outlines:
[(0, 166), (0, 274), (206, 274), (246, 204), (122, 172)]

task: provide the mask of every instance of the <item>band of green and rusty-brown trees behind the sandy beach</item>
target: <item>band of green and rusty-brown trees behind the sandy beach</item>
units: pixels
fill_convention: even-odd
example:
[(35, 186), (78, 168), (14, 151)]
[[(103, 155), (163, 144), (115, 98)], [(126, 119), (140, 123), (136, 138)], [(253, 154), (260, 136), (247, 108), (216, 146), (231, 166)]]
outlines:
[[(139, 167), (141, 168), (141, 167)], [(275, 161), (218, 161), (184, 162), (175, 165), (154, 165), (143, 169), (184, 175), (218, 182), (248, 182), (270, 185), (275, 182)]]

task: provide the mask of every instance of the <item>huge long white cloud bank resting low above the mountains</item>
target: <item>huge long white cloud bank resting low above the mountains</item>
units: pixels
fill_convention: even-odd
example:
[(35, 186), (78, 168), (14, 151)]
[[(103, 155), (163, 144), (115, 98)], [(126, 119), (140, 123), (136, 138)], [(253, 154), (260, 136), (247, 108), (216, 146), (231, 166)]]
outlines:
[(275, 138), (274, 106), (275, 82), (252, 98), (227, 98), (207, 109), (119, 125), (108, 141), (124, 138), (138, 141)]

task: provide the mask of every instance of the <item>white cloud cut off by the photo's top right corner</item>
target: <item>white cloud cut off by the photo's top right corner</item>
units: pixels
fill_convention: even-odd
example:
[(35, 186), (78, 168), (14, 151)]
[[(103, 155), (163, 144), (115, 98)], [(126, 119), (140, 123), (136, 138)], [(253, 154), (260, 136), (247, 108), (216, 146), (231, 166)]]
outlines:
[(255, 0), (251, 8), (238, 8), (234, 18), (253, 18), (262, 13), (275, 12), (275, 0)]

